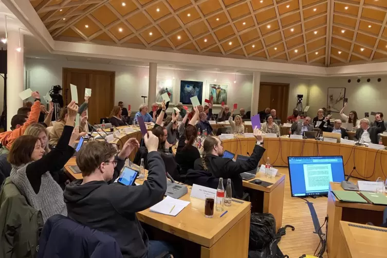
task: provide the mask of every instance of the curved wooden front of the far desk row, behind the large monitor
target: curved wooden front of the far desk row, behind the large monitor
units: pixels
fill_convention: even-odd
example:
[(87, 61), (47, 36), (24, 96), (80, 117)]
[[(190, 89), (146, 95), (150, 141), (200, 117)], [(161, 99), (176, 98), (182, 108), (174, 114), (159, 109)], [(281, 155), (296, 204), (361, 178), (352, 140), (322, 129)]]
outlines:
[[(223, 148), (235, 154), (251, 154), (255, 145), (254, 138), (239, 136), (234, 139), (223, 140)], [(365, 146), (351, 146), (341, 143), (330, 143), (314, 139), (296, 140), (288, 137), (264, 138), (266, 152), (261, 164), (270, 163), (277, 167), (288, 167), (287, 158), (290, 156), (343, 156), (345, 175), (370, 181), (378, 177), (386, 179), (387, 151), (370, 149)]]

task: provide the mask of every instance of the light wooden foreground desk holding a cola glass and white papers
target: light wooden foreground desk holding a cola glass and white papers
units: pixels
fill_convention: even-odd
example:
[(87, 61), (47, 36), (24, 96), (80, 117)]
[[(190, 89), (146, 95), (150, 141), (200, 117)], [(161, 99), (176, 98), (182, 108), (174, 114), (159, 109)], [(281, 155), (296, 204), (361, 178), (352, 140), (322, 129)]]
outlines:
[[(75, 164), (75, 158), (71, 158), (66, 163), (65, 171), (72, 178), (82, 179), (81, 174), (73, 174), (68, 168)], [(142, 184), (144, 181), (137, 179), (136, 182)], [(191, 187), (188, 186), (188, 189), (188, 194), (180, 199), (191, 203), (176, 217), (158, 214), (146, 209), (137, 213), (138, 219), (154, 227), (158, 232), (162, 232), (163, 239), (170, 239), (172, 235), (178, 236), (180, 245), (189, 246), (189, 248), (183, 248), (187, 253), (182, 257), (247, 257), (250, 202), (244, 201), (239, 204), (233, 201), (230, 207), (225, 206), (225, 211), (228, 212), (223, 217), (219, 217), (222, 212), (214, 209), (214, 217), (206, 218), (204, 216), (205, 201), (191, 198)]]

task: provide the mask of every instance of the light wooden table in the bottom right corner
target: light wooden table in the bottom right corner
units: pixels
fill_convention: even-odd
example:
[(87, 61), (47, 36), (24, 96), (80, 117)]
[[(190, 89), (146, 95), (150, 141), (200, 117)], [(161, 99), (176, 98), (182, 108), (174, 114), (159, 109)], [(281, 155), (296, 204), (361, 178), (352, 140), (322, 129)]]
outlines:
[[(338, 258), (387, 257), (387, 229), (356, 223), (340, 222)], [(376, 229), (376, 230), (375, 230)], [(383, 230), (383, 231), (379, 231)], [(329, 256), (330, 257), (330, 256)]]

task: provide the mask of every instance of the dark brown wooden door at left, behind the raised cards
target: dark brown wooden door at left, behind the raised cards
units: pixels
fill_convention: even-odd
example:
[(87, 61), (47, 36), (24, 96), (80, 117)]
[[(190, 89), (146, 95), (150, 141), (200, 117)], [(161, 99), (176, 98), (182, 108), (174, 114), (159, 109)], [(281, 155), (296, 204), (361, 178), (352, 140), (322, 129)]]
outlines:
[[(100, 123), (114, 106), (115, 72), (63, 68), (63, 99), (67, 105), (71, 101), (70, 84), (76, 85), (79, 105), (84, 102), (85, 88), (91, 89), (88, 104), (88, 121)], [(66, 104), (67, 103), (67, 104)]]

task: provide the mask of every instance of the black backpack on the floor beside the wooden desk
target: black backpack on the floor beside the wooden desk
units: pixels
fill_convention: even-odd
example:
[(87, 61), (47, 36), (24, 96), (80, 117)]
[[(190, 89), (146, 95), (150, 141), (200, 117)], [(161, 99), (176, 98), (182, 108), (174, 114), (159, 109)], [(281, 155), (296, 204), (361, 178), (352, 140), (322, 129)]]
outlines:
[(270, 213), (252, 213), (250, 218), (250, 239), (249, 258), (284, 258), (278, 243), (281, 237), (286, 234), (286, 228), (293, 226), (286, 225), (275, 230), (275, 218)]

